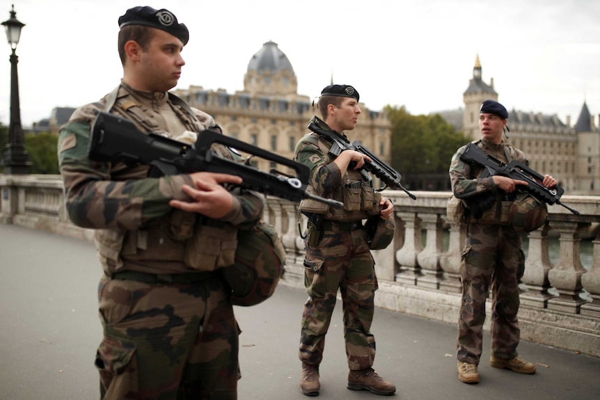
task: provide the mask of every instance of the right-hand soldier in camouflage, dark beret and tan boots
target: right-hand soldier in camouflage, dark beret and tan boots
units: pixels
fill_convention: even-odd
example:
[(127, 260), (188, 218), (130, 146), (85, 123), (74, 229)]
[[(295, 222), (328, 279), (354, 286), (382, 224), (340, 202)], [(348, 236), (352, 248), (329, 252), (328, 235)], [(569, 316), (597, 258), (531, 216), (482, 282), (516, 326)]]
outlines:
[[(508, 113), (505, 107), (486, 100), (480, 109), (481, 139), (474, 143), (491, 157), (508, 163), (512, 159), (528, 164), (521, 150), (503, 141)], [(521, 232), (510, 225), (510, 205), (516, 186), (521, 180), (494, 175), (479, 178), (482, 168), (461, 161), (463, 146), (452, 157), (450, 181), (452, 192), (477, 206), (482, 195), (492, 193), (496, 202), (475, 219), (466, 210), (466, 245), (462, 253), (462, 301), (458, 322), (457, 360), (459, 380), (479, 382), (477, 365), (482, 353), (482, 327), (485, 320), (485, 301), (491, 285), (491, 366), (508, 368), (521, 374), (533, 374), (535, 365), (519, 357), (519, 279), (523, 276), (525, 256), (521, 248)], [(544, 176), (546, 187), (556, 185), (555, 179)], [(473, 211), (473, 210), (471, 210)], [(477, 214), (471, 212), (471, 214)]]

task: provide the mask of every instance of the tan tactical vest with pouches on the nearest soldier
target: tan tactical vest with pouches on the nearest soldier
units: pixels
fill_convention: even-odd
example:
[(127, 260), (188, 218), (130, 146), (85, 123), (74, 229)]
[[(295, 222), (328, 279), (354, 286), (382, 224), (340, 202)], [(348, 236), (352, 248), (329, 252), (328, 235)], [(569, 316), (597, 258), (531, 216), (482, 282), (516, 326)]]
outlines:
[[(186, 103), (168, 94), (168, 106), (182, 128), (199, 133), (205, 127), (196, 119)], [(155, 112), (148, 110), (123, 86), (118, 86), (102, 102), (106, 110), (121, 115), (141, 131), (161, 132)], [(171, 125), (177, 121), (171, 120)], [(221, 145), (217, 145), (221, 146)], [(221, 146), (223, 147), (223, 146)], [(226, 149), (216, 149), (228, 153)], [(113, 168), (127, 168), (124, 164)], [(149, 167), (136, 168), (131, 179), (148, 176)], [(152, 221), (134, 231), (96, 230), (95, 239), (102, 264), (107, 272), (120, 270), (149, 273), (182, 273), (214, 271), (233, 264), (237, 247), (237, 228), (228, 223), (205, 218), (196, 213), (173, 209), (157, 221)]]

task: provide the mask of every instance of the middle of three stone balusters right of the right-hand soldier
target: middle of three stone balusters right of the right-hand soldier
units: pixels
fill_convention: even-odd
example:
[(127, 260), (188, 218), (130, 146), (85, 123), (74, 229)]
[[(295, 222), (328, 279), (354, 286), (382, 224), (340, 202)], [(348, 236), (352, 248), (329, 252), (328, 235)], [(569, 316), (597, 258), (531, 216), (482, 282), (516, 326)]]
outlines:
[(579, 314), (585, 301), (579, 295), (583, 293), (581, 275), (585, 268), (579, 257), (578, 223), (551, 221), (550, 226), (560, 232), (560, 258), (556, 266), (548, 271), (550, 284), (558, 291), (558, 296), (548, 299), (548, 310), (557, 310)]

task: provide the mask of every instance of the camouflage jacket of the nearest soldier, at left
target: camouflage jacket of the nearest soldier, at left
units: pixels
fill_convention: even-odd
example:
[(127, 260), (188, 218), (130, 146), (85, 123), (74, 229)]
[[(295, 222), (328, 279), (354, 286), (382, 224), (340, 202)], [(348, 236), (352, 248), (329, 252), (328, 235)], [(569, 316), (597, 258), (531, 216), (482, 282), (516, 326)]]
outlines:
[[(188, 214), (188, 218), (196, 218), (194, 214), (175, 210), (168, 205), (172, 199), (191, 200), (181, 190), (183, 184), (192, 184), (189, 175), (149, 178), (149, 166), (100, 163), (88, 159), (90, 127), (95, 118), (95, 111), (105, 111), (107, 97), (108, 95), (100, 102), (77, 109), (59, 132), (58, 161), (65, 187), (66, 208), (71, 221), (75, 225), (93, 228), (97, 232), (108, 230), (125, 235), (127, 232), (143, 230), (149, 225), (163, 227), (164, 223), (161, 221), (171, 218), (173, 213), (177, 212)], [(185, 118), (184, 111), (168, 99), (168, 93), (144, 93), (133, 90), (125, 83), (121, 83), (116, 106), (111, 109), (111, 113), (133, 120), (143, 131), (152, 129), (155, 133), (174, 138), (186, 130), (199, 132), (214, 125), (214, 120), (209, 115), (201, 111), (194, 112), (197, 113), (199, 122), (193, 118)], [(136, 113), (139, 114), (139, 118)], [(153, 122), (140, 124), (140, 120)], [(253, 222), (260, 219), (264, 207), (262, 195), (250, 191), (232, 194), (233, 207), (221, 218), (223, 223), (237, 227), (244, 224), (253, 225)], [(186, 216), (177, 218), (186, 219)], [(98, 233), (96, 237), (98, 239)], [(116, 239), (118, 240), (120, 239)], [(114, 250), (117, 254), (121, 252), (121, 248)], [(159, 265), (160, 263), (156, 263), (150, 270), (160, 272)], [(166, 268), (175, 272), (186, 270), (177, 266)]]

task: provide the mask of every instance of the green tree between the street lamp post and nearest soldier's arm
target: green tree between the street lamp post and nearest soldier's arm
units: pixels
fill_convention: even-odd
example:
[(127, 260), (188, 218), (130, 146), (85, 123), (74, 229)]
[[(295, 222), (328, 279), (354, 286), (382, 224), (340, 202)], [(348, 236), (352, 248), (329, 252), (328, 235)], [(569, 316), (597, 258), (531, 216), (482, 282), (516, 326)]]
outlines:
[(32, 174), (58, 174), (57, 145), (58, 134), (25, 135), (25, 150), (29, 153)]

